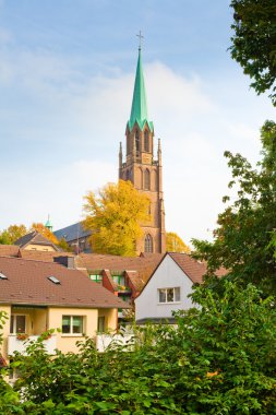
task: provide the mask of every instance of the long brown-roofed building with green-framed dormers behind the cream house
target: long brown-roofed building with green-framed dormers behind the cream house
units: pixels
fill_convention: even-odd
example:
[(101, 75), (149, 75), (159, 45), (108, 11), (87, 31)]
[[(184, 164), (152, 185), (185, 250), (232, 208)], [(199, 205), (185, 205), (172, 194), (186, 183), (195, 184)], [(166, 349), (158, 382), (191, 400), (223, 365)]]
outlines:
[[(121, 298), (132, 309), (153, 271), (164, 257), (161, 253), (141, 253), (140, 257), (119, 257), (101, 253), (84, 253), (77, 256), (60, 251), (25, 250), (15, 246), (0, 245), (0, 257), (11, 256), (44, 262), (58, 261), (59, 258), (74, 258), (74, 266), (92, 281), (103, 285)], [(129, 312), (127, 312), (129, 317)], [(125, 320), (125, 311), (118, 313), (119, 322)]]

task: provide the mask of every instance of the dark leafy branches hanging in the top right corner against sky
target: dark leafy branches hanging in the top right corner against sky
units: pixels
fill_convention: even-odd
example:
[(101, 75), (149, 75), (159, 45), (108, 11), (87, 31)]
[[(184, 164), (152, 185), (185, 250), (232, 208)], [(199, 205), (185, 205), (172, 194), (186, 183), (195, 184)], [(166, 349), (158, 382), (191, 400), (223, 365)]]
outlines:
[(261, 94), (271, 91), (276, 105), (276, 3), (275, 0), (232, 0), (235, 35), (231, 56), (253, 80)]

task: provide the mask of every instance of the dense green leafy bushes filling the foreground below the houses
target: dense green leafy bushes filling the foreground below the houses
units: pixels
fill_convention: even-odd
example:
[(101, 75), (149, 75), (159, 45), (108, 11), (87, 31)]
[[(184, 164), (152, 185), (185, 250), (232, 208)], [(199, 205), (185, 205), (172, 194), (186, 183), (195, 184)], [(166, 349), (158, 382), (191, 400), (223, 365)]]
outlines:
[(40, 339), (15, 356), (21, 379), (9, 393), (0, 389), (0, 408), (7, 415), (274, 414), (274, 298), (227, 280), (221, 289), (223, 297), (197, 286), (201, 307), (179, 312), (176, 327), (136, 329), (134, 344), (104, 354), (87, 339), (80, 354), (51, 357)]

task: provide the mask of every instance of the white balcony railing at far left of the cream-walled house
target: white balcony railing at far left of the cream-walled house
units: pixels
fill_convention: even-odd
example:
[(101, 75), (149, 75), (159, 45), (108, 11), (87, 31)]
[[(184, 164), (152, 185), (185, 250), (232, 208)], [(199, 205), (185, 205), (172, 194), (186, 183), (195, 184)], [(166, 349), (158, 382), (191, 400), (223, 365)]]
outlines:
[[(38, 335), (29, 335), (26, 340), (19, 340), (16, 334), (10, 334), (8, 337), (8, 355), (13, 355), (14, 352), (25, 354), (29, 342), (36, 341), (38, 337)], [(49, 355), (56, 354), (55, 349), (57, 348), (57, 336), (55, 334), (52, 334), (49, 339), (44, 340), (43, 344)]]

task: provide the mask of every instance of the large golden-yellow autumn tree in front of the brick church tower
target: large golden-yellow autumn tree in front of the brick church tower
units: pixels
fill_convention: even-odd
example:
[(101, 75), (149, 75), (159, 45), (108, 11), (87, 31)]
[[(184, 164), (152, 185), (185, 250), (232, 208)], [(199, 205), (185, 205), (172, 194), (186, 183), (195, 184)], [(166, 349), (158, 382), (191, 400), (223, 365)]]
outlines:
[(135, 242), (142, 236), (141, 222), (149, 220), (149, 200), (130, 181), (109, 183), (84, 198), (83, 226), (92, 230), (94, 252), (135, 256)]

